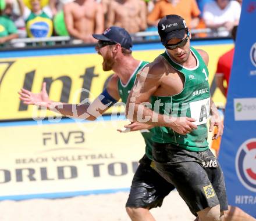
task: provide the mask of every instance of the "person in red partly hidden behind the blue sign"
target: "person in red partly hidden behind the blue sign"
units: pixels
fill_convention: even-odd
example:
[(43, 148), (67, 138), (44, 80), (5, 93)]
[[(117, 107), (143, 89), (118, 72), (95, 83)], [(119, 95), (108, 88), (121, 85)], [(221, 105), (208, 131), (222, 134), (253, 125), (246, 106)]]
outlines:
[[(237, 26), (234, 26), (232, 29), (232, 38), (236, 41), (236, 30)], [(222, 92), (222, 94), (227, 96), (227, 87), (229, 85), (229, 77), (231, 73), (231, 68), (233, 64), (233, 56), (234, 56), (234, 48), (226, 52), (224, 55), (219, 57), (217, 70), (216, 70), (216, 85)], [(224, 82), (226, 81), (226, 86), (224, 86)]]

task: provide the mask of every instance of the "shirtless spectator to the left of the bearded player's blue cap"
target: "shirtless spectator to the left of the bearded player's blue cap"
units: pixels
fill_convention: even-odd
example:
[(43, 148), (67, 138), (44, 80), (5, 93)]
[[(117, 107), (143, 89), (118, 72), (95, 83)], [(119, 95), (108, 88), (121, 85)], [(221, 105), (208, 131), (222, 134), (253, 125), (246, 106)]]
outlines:
[(76, 0), (63, 6), (65, 23), (69, 35), (84, 43), (97, 40), (92, 34), (104, 31), (104, 12), (102, 3), (94, 0)]

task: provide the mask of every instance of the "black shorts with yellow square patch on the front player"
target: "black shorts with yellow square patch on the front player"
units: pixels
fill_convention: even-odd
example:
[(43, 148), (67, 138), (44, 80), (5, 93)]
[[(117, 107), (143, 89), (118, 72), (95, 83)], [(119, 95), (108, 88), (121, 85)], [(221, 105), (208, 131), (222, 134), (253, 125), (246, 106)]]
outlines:
[(172, 183), (194, 214), (218, 204), (227, 210), (224, 176), (211, 150), (193, 152), (174, 144), (154, 143), (157, 172)]

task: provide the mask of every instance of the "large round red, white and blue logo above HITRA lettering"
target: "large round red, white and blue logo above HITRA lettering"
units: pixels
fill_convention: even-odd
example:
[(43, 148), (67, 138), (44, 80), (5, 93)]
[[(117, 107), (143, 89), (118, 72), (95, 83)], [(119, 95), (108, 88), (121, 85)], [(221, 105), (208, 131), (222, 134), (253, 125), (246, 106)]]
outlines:
[(246, 189), (256, 192), (256, 138), (246, 140), (239, 147), (236, 173)]

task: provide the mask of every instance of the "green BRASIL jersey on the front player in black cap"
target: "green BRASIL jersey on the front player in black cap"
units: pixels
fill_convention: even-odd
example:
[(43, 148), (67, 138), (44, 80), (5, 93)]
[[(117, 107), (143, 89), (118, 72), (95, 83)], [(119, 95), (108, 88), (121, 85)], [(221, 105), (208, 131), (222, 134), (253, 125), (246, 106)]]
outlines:
[[(155, 127), (152, 140), (157, 143), (173, 143), (190, 151), (207, 150), (207, 119), (209, 117), (210, 92), (208, 68), (200, 54), (191, 47), (197, 60), (195, 68), (186, 68), (171, 59), (167, 52), (163, 56), (170, 66), (184, 75), (182, 92), (173, 96), (153, 96), (152, 106), (160, 114), (172, 117), (191, 117), (196, 119), (197, 129), (187, 135), (180, 135), (168, 127)], [(163, 106), (161, 106), (163, 104)]]

